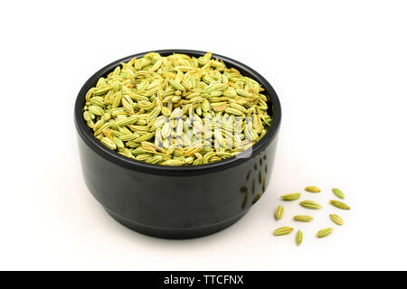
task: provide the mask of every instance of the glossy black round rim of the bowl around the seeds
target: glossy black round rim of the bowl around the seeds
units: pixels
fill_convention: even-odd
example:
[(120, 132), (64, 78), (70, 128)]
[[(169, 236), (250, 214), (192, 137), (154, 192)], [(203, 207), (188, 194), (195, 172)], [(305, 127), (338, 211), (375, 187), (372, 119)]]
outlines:
[[(224, 61), (228, 67), (235, 68), (241, 72), (241, 74), (251, 77), (252, 79), (257, 80), (260, 85), (265, 89), (267, 95), (270, 97), (272, 110), (273, 110), (273, 124), (264, 135), (259, 143), (254, 144), (252, 146), (252, 150), (243, 151), (240, 153), (240, 157), (232, 156), (230, 158), (226, 158), (222, 161), (215, 162), (215, 163), (206, 163), (200, 165), (191, 165), (191, 166), (166, 166), (154, 163), (144, 163), (141, 161), (137, 161), (134, 159), (130, 159), (124, 155), (118, 154), (115, 151), (110, 150), (109, 148), (105, 147), (103, 144), (99, 142), (99, 140), (90, 132), (88, 126), (86, 126), (86, 122), (83, 120), (83, 112), (82, 107), (84, 105), (85, 95), (90, 88), (92, 88), (97, 80), (100, 77), (105, 76), (110, 71), (114, 70), (120, 63), (125, 61), (130, 61), (131, 59), (137, 57), (140, 58), (147, 53), (150, 52), (157, 52), (163, 56), (171, 55), (173, 53), (184, 53), (190, 56), (203, 56), (206, 52), (204, 51), (193, 51), (193, 50), (184, 50), (184, 49), (167, 49), (167, 50), (156, 50), (156, 51), (146, 51), (137, 54), (133, 54), (118, 61), (113, 61), (110, 64), (106, 65), (102, 69), (95, 72), (90, 79), (88, 79), (80, 89), (80, 92), (76, 98), (75, 106), (74, 106), (74, 123), (76, 126), (76, 130), (80, 135), (80, 139), (87, 144), (90, 149), (99, 154), (100, 157), (107, 159), (111, 163), (115, 163), (119, 166), (125, 167), (129, 170), (138, 171), (138, 172), (148, 172), (160, 175), (194, 175), (194, 174), (202, 174), (208, 172), (219, 172), (225, 169), (228, 169), (232, 166), (239, 165), (241, 163), (245, 163), (249, 161), (254, 155), (259, 154), (262, 152), (270, 142), (274, 140), (276, 135), (279, 132), (279, 126), (281, 123), (281, 106), (279, 103), (279, 97), (277, 96), (276, 91), (272, 88), (269, 81), (264, 79), (257, 71), (251, 69), (249, 66), (239, 62), (232, 60), (231, 58), (222, 56), (220, 54), (213, 53), (214, 59), (219, 59)], [(251, 154), (247, 157), (247, 154)]]

